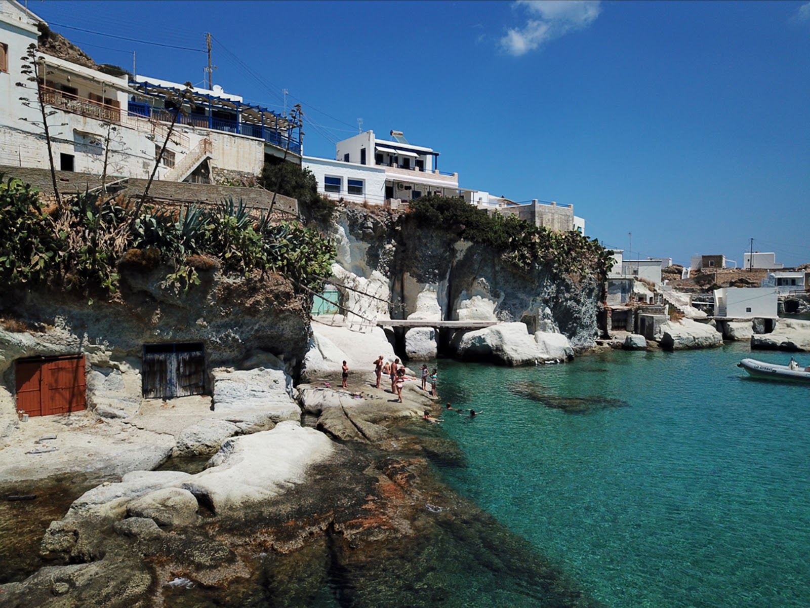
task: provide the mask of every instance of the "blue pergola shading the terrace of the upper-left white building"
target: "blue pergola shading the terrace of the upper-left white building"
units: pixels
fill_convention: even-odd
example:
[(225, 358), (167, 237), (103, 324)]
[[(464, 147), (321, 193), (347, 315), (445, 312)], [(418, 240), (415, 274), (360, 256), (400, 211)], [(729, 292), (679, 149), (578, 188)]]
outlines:
[(171, 122), (177, 104), (182, 103), (177, 116), (180, 124), (264, 139), (301, 155), (301, 125), (260, 105), (245, 104), (199, 89), (185, 91), (147, 81), (130, 80), (130, 88), (139, 98), (130, 100), (130, 115)]

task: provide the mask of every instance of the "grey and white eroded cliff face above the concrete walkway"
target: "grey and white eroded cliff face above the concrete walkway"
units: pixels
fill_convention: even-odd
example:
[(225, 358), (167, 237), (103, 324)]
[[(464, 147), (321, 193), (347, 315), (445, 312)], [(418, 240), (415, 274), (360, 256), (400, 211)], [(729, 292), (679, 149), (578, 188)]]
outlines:
[(552, 261), (521, 270), (495, 249), (459, 239), (454, 231), (461, 229), (425, 229), (405, 215), (341, 208), (334, 270), (347, 286), (344, 306), (364, 317), (523, 321), (531, 333), (559, 331), (573, 347), (593, 345), (597, 279), (555, 273)]

